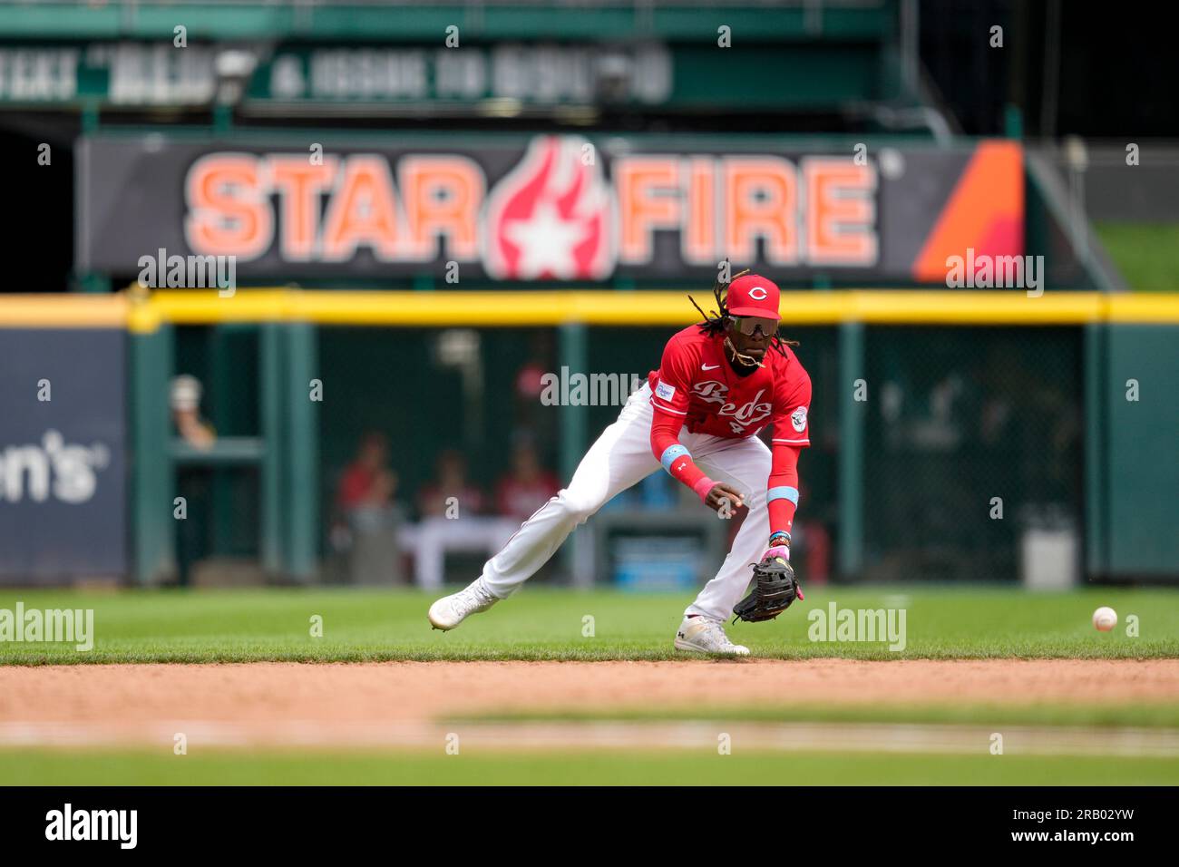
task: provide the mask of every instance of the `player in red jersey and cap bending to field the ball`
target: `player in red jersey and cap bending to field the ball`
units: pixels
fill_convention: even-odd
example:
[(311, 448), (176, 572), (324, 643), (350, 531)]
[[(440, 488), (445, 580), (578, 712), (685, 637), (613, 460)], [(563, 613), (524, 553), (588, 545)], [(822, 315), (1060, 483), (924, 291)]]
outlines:
[[(719, 310), (709, 315), (697, 306), (704, 321), (672, 335), (659, 369), (602, 431), (568, 487), (521, 525), (474, 583), (430, 606), (435, 629), (454, 629), (514, 593), (579, 524), (660, 467), (720, 517), (749, 506), (720, 571), (684, 612), (674, 646), (746, 656), (723, 626), (735, 607), (744, 619), (772, 619), (793, 602), (790, 527), (798, 454), (810, 445), (810, 376), (790, 349), (797, 343), (778, 336), (780, 294), (772, 281), (738, 275), (727, 291), (718, 282), (713, 294)], [(771, 447), (756, 436), (766, 425), (773, 426)], [(766, 600), (759, 580), (763, 598), (755, 587), (738, 605), (753, 563), (776, 564), (777, 577), (789, 579), (778, 584), (785, 592)], [(762, 573), (755, 569), (755, 576)], [(757, 615), (746, 616), (753, 609)]]

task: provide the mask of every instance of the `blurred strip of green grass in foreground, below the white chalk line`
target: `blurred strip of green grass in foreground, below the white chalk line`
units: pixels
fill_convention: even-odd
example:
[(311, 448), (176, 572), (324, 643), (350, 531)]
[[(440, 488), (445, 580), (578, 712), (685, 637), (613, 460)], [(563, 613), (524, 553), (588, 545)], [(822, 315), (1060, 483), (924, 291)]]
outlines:
[(1173, 786), (1177, 758), (757, 753), (0, 751), (14, 786)]

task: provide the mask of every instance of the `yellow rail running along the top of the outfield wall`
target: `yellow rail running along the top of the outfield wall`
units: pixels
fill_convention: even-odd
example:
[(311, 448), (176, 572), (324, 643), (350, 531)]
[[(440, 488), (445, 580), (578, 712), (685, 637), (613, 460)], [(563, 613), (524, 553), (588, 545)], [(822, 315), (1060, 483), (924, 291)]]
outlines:
[[(707, 290), (693, 293), (709, 309)], [(160, 323), (315, 322), (340, 326), (679, 326), (698, 318), (683, 291), (164, 290), (114, 295), (0, 295), (0, 328), (127, 328)], [(1007, 291), (797, 291), (784, 324), (1179, 324), (1179, 294)]]

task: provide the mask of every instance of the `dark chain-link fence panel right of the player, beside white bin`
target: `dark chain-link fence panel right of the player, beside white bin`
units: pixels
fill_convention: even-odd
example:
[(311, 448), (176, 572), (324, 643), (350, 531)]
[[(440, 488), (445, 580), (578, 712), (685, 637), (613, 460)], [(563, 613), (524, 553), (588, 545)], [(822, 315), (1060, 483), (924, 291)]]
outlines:
[(1082, 344), (1068, 328), (872, 328), (870, 580), (1014, 580), (1035, 530), (1082, 512)]

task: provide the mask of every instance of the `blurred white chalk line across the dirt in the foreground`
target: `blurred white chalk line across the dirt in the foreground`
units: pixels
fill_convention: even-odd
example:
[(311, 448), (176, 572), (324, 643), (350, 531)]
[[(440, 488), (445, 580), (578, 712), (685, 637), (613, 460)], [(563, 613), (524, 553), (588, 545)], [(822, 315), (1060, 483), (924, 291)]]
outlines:
[(729, 735), (733, 753), (930, 753), (986, 755), (992, 735), (1005, 755), (1179, 756), (1179, 731), (1142, 728), (927, 725), (883, 723), (707, 722), (417, 722), (338, 723), (283, 721), (243, 724), (211, 721), (104, 723), (0, 723), (0, 747), (172, 749), (183, 733), (199, 747), (316, 749), (437, 749), (457, 735), (462, 751), (578, 749), (717, 749)]

